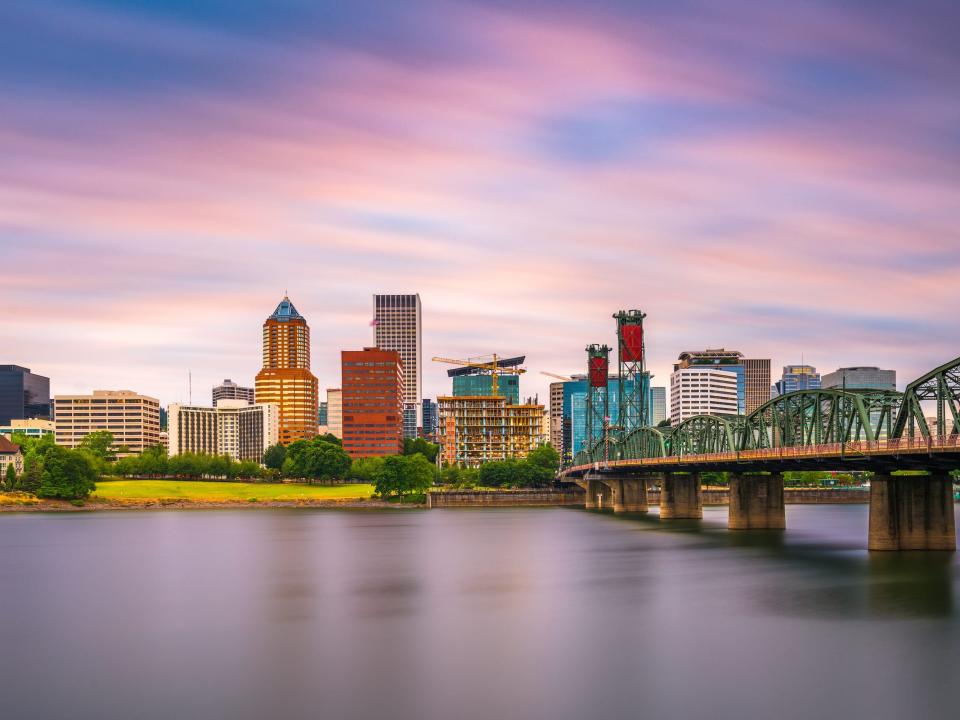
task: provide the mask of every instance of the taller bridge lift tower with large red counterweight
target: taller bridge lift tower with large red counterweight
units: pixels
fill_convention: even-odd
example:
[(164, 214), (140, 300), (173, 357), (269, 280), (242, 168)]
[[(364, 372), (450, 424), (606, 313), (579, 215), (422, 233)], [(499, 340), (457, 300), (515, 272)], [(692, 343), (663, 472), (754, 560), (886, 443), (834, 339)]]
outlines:
[(620, 437), (649, 424), (647, 408), (646, 352), (643, 344), (643, 319), (640, 310), (621, 310), (617, 321), (617, 357), (620, 374), (617, 382), (617, 430)]

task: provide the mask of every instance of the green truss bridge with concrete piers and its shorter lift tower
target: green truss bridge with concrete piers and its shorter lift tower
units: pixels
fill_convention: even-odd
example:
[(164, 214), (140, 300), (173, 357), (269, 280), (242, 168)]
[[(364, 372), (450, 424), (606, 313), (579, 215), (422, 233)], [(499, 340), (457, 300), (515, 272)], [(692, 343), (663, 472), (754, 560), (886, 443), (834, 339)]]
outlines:
[[(588, 354), (595, 361), (608, 350), (593, 345)], [(606, 367), (597, 367), (605, 409)], [(950, 473), (960, 469), (960, 358), (902, 393), (800, 390), (749, 415), (697, 415), (672, 428), (610, 427), (590, 403), (588, 431), (599, 428), (600, 437), (560, 473), (584, 488), (588, 509), (647, 512), (654, 483), (661, 520), (698, 519), (701, 473), (725, 471), (730, 529), (777, 530), (786, 527), (784, 472), (867, 470), (870, 550), (956, 550)]]

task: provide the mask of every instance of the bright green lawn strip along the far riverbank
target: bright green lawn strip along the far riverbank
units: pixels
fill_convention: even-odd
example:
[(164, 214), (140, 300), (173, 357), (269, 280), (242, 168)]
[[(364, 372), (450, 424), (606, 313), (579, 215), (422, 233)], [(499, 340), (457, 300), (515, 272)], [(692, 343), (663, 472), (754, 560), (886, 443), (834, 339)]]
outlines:
[(342, 500), (368, 498), (373, 485), (291, 485), (281, 483), (201, 482), (195, 480), (105, 480), (94, 498), (103, 500), (181, 499), (193, 502), (270, 500)]

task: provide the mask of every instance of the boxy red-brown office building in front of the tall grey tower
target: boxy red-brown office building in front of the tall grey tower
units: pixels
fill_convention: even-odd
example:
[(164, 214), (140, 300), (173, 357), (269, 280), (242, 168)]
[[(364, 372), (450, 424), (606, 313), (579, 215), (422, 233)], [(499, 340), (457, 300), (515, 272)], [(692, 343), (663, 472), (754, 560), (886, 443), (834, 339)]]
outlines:
[(403, 453), (403, 367), (395, 350), (340, 353), (343, 449), (352, 458)]

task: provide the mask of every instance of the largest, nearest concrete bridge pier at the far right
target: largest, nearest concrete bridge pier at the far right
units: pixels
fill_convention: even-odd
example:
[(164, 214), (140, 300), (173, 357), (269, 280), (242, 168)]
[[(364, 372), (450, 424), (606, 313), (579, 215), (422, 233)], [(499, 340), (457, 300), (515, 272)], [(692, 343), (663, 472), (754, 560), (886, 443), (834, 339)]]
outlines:
[(867, 549), (956, 550), (950, 475), (874, 475)]

